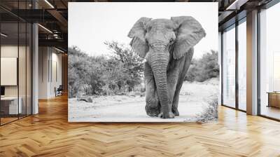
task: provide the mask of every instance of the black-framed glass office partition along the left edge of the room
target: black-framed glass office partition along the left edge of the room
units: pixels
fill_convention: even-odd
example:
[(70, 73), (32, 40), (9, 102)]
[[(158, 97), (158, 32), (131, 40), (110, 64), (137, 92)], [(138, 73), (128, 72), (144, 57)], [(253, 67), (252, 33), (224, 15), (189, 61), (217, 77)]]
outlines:
[[(13, 1), (13, 9), (29, 9), (30, 2)], [(5, 3), (10, 2), (0, 2)], [(0, 125), (3, 125), (31, 114), (32, 28), (27, 21), (1, 8), (0, 18)]]

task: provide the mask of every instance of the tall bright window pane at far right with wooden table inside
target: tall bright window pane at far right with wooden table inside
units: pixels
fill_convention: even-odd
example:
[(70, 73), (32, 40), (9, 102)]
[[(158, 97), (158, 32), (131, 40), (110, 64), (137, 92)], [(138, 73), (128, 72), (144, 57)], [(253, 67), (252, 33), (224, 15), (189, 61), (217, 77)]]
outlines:
[(260, 13), (260, 114), (280, 119), (280, 3)]

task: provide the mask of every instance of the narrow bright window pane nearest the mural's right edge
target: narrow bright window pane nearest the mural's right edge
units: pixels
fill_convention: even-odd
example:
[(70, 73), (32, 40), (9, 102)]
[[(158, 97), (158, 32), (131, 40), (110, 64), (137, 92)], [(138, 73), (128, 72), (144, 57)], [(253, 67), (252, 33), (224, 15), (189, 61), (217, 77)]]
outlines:
[(223, 32), (223, 104), (235, 107), (235, 27)]

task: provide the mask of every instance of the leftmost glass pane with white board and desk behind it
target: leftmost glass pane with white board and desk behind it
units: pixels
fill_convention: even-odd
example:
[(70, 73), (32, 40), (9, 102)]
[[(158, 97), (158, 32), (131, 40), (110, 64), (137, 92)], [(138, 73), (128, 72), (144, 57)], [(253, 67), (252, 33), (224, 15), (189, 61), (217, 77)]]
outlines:
[(18, 22), (1, 23), (1, 125), (18, 119)]

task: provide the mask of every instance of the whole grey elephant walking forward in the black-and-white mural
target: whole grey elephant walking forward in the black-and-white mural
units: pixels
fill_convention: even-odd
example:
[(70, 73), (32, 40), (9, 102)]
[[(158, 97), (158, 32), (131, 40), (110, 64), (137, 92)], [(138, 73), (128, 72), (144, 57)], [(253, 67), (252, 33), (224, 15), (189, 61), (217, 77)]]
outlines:
[(194, 46), (206, 36), (191, 16), (169, 19), (142, 17), (127, 35), (130, 46), (144, 62), (146, 113), (148, 116), (179, 116), (179, 93), (193, 58)]

